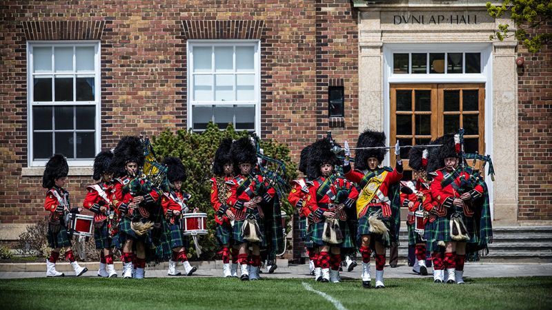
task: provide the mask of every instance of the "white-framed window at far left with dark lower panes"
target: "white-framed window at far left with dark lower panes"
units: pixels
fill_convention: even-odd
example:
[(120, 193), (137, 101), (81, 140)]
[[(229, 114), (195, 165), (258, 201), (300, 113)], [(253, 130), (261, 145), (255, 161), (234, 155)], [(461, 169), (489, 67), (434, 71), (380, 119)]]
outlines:
[(92, 165), (100, 148), (99, 41), (29, 41), (28, 165), (63, 154)]

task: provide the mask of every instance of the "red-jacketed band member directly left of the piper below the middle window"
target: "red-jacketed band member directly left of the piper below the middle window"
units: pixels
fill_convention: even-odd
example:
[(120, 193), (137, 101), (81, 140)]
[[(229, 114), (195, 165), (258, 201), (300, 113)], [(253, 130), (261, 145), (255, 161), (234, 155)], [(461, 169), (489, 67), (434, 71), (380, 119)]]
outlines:
[[(217, 241), (222, 247), (222, 276), (224, 278), (237, 278), (237, 256), (238, 251), (233, 246), (233, 231), (230, 221), (234, 220), (234, 214), (226, 204), (230, 196), (230, 187), (227, 182), (233, 180), (232, 157), (230, 156), (232, 139), (224, 138), (219, 144), (213, 161), (213, 183), (211, 187), (211, 205), (215, 209), (215, 222), (217, 223)], [(230, 265), (230, 249), (232, 250), (232, 264)]]

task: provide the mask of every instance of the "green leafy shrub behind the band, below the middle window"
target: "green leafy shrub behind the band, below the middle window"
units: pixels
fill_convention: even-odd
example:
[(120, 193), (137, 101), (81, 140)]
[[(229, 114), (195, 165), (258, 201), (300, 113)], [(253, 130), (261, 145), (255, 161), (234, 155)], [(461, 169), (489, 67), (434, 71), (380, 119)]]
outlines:
[[(237, 139), (247, 136), (247, 134), (247, 132), (237, 132), (231, 124), (228, 124), (226, 130), (219, 130), (217, 125), (209, 123), (207, 129), (201, 134), (186, 130), (178, 130), (176, 133), (166, 130), (158, 136), (152, 137), (152, 146), (157, 156), (157, 161), (161, 162), (166, 156), (176, 156), (181, 158), (182, 163), (184, 163), (188, 178), (184, 182), (183, 187), (185, 192), (192, 195), (188, 207), (190, 209), (197, 207), (201, 212), (208, 215), (208, 234), (199, 238), (199, 243), (203, 249), (201, 258), (213, 259), (216, 252), (220, 250), (215, 238), (215, 211), (210, 204), (210, 178), (213, 176), (211, 164), (215, 157), (215, 152), (223, 138)], [(290, 150), (287, 145), (265, 139), (261, 141), (261, 147), (264, 149), (266, 156), (286, 163), (286, 176), (288, 180), (297, 177), (297, 164), (291, 161)], [(281, 202), (282, 210), (291, 215), (293, 207), (288, 203), (288, 200), (282, 197)], [(288, 216), (286, 223), (290, 218), (292, 217)], [(191, 256), (197, 258), (195, 248), (192, 245), (187, 250)]]

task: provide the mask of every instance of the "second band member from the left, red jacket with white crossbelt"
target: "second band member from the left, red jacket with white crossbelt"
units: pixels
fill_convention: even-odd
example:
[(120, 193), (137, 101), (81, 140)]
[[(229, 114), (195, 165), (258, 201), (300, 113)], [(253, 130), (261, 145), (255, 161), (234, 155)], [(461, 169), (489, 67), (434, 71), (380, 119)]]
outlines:
[[(83, 207), (94, 212), (94, 240), (96, 249), (100, 251), (98, 276), (117, 278), (117, 271), (113, 266), (112, 249), (119, 247), (117, 222), (112, 216), (111, 198), (113, 185), (112, 172), (109, 164), (113, 158), (111, 151), (99, 152), (94, 159), (94, 180), (100, 180), (94, 185), (86, 187), (88, 193), (84, 198)], [(106, 270), (107, 267), (107, 270)]]

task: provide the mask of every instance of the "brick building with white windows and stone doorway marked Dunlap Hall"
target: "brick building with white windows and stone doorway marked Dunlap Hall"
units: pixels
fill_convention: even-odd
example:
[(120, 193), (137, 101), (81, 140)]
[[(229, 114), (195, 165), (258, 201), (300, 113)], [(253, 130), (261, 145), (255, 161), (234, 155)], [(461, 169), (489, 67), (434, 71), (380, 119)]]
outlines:
[(45, 215), (52, 153), (79, 202), (93, 156), (121, 136), (208, 121), (296, 158), (328, 130), (408, 145), (463, 125), (495, 162), (495, 225), (552, 223), (550, 49), (489, 41), (500, 21), (485, 1), (450, 2), (4, 1), (1, 241)]

